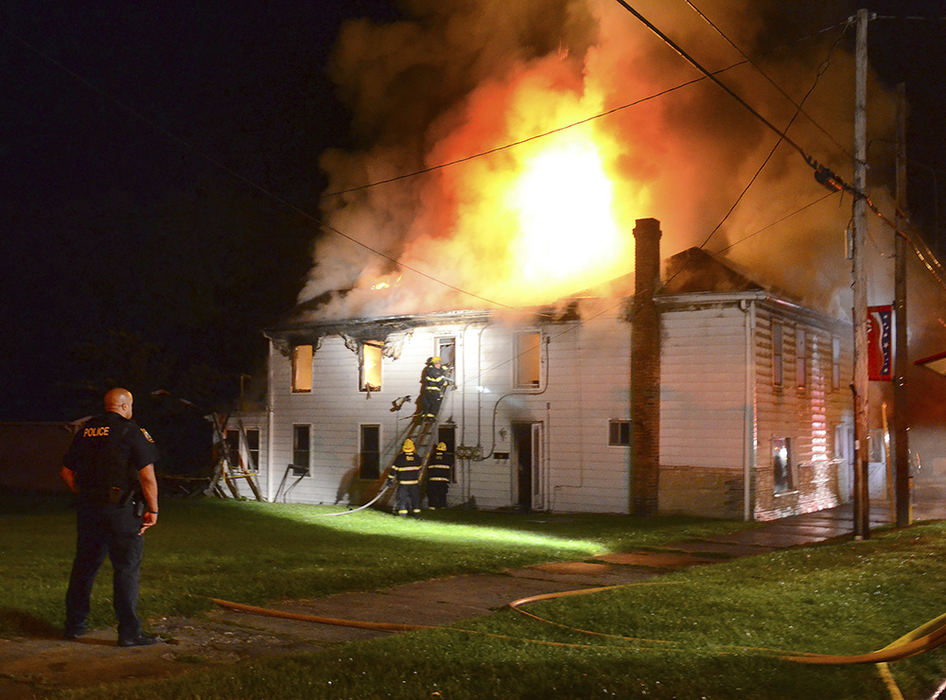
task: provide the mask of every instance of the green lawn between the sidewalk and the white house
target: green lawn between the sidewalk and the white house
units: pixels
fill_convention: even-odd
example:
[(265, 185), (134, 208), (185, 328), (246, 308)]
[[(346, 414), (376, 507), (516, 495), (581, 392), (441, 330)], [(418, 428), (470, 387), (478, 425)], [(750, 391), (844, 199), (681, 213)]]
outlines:
[[(659, 546), (731, 531), (739, 523), (694, 518), (549, 516), (438, 511), (401, 520), (373, 510), (231, 500), (169, 500), (145, 540), (139, 612), (190, 615), (209, 598), (263, 604), (454, 573), (496, 571), (598, 552)], [(66, 501), (0, 499), (0, 636), (50, 631), (62, 606), (75, 546)], [(114, 624), (103, 566), (90, 625)]]

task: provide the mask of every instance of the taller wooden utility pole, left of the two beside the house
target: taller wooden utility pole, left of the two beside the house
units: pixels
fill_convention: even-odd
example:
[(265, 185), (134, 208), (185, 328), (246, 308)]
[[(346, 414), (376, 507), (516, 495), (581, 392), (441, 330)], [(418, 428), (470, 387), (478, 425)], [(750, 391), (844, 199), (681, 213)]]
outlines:
[(870, 492), (867, 486), (867, 20), (857, 11), (854, 77), (854, 537), (870, 537)]

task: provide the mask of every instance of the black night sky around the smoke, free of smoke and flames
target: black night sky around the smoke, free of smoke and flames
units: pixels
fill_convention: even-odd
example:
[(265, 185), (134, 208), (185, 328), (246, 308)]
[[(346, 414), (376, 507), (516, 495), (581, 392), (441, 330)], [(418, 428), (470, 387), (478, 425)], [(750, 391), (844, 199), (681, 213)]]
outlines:
[[(4, 3), (0, 420), (70, 420), (111, 383), (226, 405), (260, 372), (260, 329), (295, 303), (320, 235), (304, 215), (319, 155), (352, 145), (327, 57), (346, 18), (393, 21), (394, 5)], [(772, 36), (857, 6), (759, 3)], [(946, 2), (867, 7), (946, 16)], [(911, 205), (940, 243), (944, 29), (870, 30), (882, 79), (907, 82)]]

